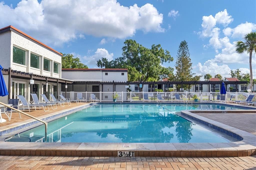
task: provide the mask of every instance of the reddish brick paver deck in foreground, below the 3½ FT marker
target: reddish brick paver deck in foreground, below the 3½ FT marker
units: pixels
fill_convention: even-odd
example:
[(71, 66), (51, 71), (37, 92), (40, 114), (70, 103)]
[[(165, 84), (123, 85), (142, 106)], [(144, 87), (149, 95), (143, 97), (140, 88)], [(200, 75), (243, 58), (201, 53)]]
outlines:
[(0, 169), (256, 169), (256, 157), (47, 157), (0, 156)]

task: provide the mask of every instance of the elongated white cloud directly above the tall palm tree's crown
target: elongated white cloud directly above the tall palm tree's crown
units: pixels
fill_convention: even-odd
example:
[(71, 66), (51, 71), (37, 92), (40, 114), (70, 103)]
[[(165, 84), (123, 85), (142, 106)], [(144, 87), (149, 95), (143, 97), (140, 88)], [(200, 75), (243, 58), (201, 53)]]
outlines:
[(245, 34), (248, 34), (252, 31), (256, 30), (256, 24), (251, 23), (251, 22), (246, 22), (246, 23), (241, 23), (239, 24), (237, 27), (235, 28), (225, 28), (223, 29), (223, 33), (226, 36), (230, 36), (232, 34), (232, 37), (234, 38), (241, 38), (243, 37)]

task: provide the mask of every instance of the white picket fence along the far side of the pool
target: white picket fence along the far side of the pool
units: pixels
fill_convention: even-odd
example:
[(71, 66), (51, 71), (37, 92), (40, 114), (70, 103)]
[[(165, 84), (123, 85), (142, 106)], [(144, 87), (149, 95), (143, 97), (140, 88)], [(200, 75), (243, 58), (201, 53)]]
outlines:
[[(70, 100), (76, 100), (77, 93), (82, 93), (83, 98), (87, 101), (90, 101), (91, 94), (94, 94), (100, 102), (113, 101), (113, 95), (115, 93), (118, 94), (118, 98), (116, 100), (118, 102), (143, 101), (144, 94), (148, 94), (148, 98), (151, 101), (156, 101), (157, 94), (161, 94), (162, 98), (165, 99), (165, 101), (169, 102), (177, 101), (175, 98), (175, 94), (179, 94), (180, 98), (183, 99), (185, 102), (194, 101), (194, 95), (197, 95), (198, 101), (200, 102), (218, 101), (218, 96), (220, 95), (220, 92), (61, 92), (64, 97), (69, 98)], [(242, 101), (246, 100), (250, 94), (256, 95), (256, 93), (227, 92), (225, 98), (230, 100), (232, 96), (232, 101)], [(254, 97), (253, 101), (256, 102), (256, 97)]]

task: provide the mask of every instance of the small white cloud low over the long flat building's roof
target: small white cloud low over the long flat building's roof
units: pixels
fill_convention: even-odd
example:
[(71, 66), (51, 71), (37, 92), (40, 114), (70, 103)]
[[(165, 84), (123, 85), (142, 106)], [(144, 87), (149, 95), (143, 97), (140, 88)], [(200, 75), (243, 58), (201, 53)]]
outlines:
[(113, 53), (109, 53), (105, 48), (98, 48), (93, 55), (91, 56), (83, 56), (81, 57), (81, 61), (88, 65), (88, 67), (95, 67), (97, 64), (97, 60), (103, 58), (107, 58), (109, 61), (113, 60)]

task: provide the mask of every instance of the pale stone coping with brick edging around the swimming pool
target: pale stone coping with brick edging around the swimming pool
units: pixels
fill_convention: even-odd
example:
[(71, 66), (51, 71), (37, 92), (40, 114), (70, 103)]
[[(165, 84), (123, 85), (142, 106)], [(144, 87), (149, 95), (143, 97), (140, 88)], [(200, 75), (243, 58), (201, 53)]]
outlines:
[[(59, 117), (71, 114), (75, 111), (92, 106), (94, 104), (114, 103), (95, 102), (81, 105), (77, 108), (66, 109), (48, 115), (41, 116), (50, 122)], [(119, 102), (118, 102), (119, 103)], [(131, 103), (131, 102), (122, 102)], [(134, 102), (132, 102), (134, 104)], [(136, 102), (145, 104), (145, 102)], [(156, 104), (159, 102), (150, 102)], [(189, 102), (190, 103), (190, 102)], [(197, 104), (219, 104), (213, 102), (202, 102)], [(114, 103), (117, 104), (117, 103)], [(161, 104), (184, 104), (184, 102), (163, 102)], [(194, 102), (193, 102), (194, 104)], [(225, 104), (227, 106), (233, 106)], [(201, 112), (203, 110), (200, 110)], [(210, 110), (206, 110), (211, 112)], [(216, 110), (212, 110), (216, 111)], [(230, 111), (230, 110), (221, 110)], [(239, 110), (243, 111), (243, 110)], [(248, 110), (244, 110), (248, 111)], [(0, 141), (0, 155), (36, 155), (36, 156), (117, 156), (117, 151), (135, 151), (135, 156), (176, 156), (176, 157), (215, 157), (215, 156), (251, 156), (255, 155), (256, 135), (249, 132), (216, 122), (214, 120), (191, 113), (194, 111), (181, 111), (181, 115), (196, 120), (209, 127), (236, 135), (242, 139), (229, 143), (34, 143), (34, 142), (5, 142)], [(54, 115), (56, 115), (54, 117)], [(41, 117), (39, 117), (41, 119)], [(27, 121), (27, 120), (26, 120)], [(31, 123), (31, 122), (27, 122)], [(25, 121), (24, 121), (25, 124)], [(32, 124), (32, 126), (38, 124)], [(29, 127), (30, 129), (31, 127)], [(218, 129), (219, 128), (219, 129)], [(22, 128), (23, 129), (23, 128)], [(221, 130), (222, 129), (222, 130)], [(20, 130), (20, 129), (19, 129)], [(16, 130), (15, 130), (16, 131)], [(13, 131), (13, 132), (15, 132)], [(231, 132), (231, 133), (229, 133)], [(123, 148), (123, 144), (130, 144), (130, 148)]]

